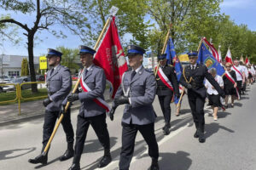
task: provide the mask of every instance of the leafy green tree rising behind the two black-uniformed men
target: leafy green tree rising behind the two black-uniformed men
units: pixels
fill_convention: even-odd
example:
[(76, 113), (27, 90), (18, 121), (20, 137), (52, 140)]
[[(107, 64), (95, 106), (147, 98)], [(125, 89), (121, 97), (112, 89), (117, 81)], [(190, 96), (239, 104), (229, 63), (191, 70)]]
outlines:
[[(218, 20), (221, 0), (148, 0), (148, 14), (157, 23), (154, 29), (164, 36), (172, 23), (171, 37), (177, 52), (195, 49), (201, 37), (211, 32), (212, 24)], [(155, 37), (159, 37), (156, 34)], [(164, 37), (160, 36), (160, 37)], [(154, 35), (152, 35), (154, 37)], [(163, 46), (164, 38), (158, 42)], [(156, 50), (159, 50), (157, 48)]]

